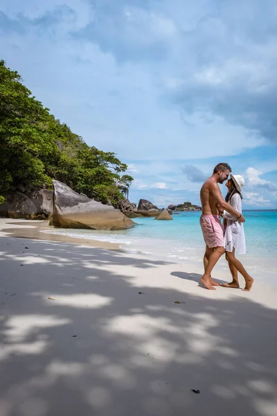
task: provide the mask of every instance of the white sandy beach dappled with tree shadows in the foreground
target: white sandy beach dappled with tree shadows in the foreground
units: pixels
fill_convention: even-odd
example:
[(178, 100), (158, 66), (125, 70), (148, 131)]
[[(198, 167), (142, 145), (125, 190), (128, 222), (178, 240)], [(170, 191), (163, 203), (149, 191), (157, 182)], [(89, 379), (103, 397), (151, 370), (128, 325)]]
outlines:
[(26, 227), (0, 218), (1, 416), (277, 415), (274, 286)]

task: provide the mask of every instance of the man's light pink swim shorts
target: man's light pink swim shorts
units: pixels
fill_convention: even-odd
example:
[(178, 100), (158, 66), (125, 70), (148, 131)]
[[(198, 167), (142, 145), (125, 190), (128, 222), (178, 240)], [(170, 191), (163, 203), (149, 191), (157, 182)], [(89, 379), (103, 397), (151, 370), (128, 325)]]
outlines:
[(208, 248), (223, 247), (224, 235), (220, 218), (213, 214), (202, 214), (200, 225)]

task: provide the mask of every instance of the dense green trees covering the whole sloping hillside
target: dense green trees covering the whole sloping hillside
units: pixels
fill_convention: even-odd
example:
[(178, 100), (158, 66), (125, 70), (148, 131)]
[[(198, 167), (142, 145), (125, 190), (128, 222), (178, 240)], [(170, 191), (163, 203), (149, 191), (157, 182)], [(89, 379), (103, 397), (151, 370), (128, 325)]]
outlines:
[[(118, 205), (133, 178), (115, 153), (88, 146), (49, 113), (0, 61), (0, 196), (24, 186), (66, 183), (89, 198)], [(1, 201), (1, 198), (0, 198)]]

